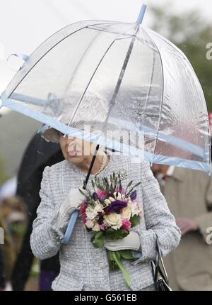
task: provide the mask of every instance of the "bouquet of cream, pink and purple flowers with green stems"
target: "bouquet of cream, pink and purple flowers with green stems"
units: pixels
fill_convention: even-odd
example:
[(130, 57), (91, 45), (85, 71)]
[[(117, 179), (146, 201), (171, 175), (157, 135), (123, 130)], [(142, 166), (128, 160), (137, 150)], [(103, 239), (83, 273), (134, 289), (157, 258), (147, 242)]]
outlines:
[[(126, 237), (131, 228), (139, 224), (142, 214), (141, 204), (136, 201), (136, 189), (139, 183), (133, 181), (122, 187), (119, 174), (113, 172), (110, 179), (95, 176), (92, 179), (93, 190), (85, 185), (80, 192), (86, 196), (80, 208), (80, 216), (87, 231), (93, 231), (90, 239), (95, 248), (104, 246), (104, 239), (118, 240)], [(131, 279), (122, 264), (122, 258), (134, 259), (131, 250), (108, 251), (110, 270), (120, 269), (129, 287)]]

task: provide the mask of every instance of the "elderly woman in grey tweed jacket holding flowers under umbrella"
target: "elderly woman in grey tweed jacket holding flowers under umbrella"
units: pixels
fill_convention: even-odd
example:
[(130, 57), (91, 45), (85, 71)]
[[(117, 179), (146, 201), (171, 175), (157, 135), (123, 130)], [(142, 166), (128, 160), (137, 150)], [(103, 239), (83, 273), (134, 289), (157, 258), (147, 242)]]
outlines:
[[(105, 240), (105, 246), (94, 248), (90, 243), (92, 232), (88, 232), (80, 218), (67, 245), (60, 243), (71, 214), (83, 201), (78, 188), (82, 187), (93, 157), (91, 143), (82, 143), (76, 138), (54, 131), (65, 160), (45, 167), (42, 177), (40, 206), (33, 223), (30, 238), (36, 257), (44, 260), (60, 253), (61, 270), (52, 283), (53, 290), (128, 290), (122, 272), (110, 272), (107, 249), (138, 250), (141, 257), (135, 261), (123, 260), (131, 276), (132, 290), (154, 290), (151, 260), (155, 259), (155, 238), (158, 236), (162, 255), (167, 255), (179, 243), (180, 231), (175, 218), (170, 214), (165, 198), (160, 193), (148, 162), (131, 162), (131, 157), (110, 153), (100, 147), (90, 174), (92, 179), (108, 177), (112, 172), (123, 172), (122, 186), (131, 180), (141, 182), (137, 187), (137, 198), (142, 202), (143, 216), (129, 235), (120, 240)], [(81, 145), (82, 144), (82, 145)], [(90, 179), (90, 180), (91, 180)], [(90, 180), (88, 188), (92, 187)]]

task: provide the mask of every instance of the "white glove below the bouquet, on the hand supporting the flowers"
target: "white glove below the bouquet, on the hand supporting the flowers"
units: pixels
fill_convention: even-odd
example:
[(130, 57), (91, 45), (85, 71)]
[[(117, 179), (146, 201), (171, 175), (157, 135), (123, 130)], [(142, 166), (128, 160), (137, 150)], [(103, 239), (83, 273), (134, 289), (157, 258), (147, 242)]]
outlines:
[(126, 237), (118, 240), (112, 240), (109, 238), (105, 238), (105, 248), (111, 251), (119, 251), (119, 250), (139, 250), (140, 248), (140, 238), (139, 234), (130, 231)]

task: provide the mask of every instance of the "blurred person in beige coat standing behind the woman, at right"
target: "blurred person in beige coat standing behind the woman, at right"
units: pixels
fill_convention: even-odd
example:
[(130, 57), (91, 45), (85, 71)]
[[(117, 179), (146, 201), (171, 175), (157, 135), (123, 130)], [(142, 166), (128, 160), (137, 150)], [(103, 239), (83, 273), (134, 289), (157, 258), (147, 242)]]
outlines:
[(164, 258), (173, 290), (212, 290), (212, 177), (198, 170), (152, 166), (182, 239)]

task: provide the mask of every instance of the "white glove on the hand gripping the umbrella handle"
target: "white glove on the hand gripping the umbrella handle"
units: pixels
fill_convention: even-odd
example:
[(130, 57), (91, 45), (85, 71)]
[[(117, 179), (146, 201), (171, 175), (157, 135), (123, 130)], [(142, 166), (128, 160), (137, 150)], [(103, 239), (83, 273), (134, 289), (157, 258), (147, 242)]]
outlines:
[(71, 189), (68, 196), (61, 204), (59, 208), (59, 214), (57, 216), (57, 227), (63, 228), (68, 223), (73, 211), (80, 208), (82, 201), (86, 199), (86, 196), (81, 194), (78, 189)]

